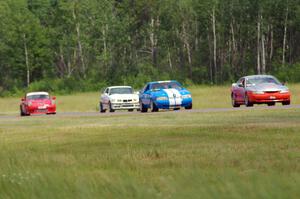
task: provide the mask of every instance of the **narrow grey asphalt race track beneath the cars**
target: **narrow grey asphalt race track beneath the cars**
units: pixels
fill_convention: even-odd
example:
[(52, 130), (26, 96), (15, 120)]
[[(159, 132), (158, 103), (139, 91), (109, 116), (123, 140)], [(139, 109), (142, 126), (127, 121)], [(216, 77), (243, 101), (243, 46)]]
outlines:
[[(289, 106), (254, 106), (254, 107), (239, 107), (239, 108), (205, 108), (205, 109), (192, 109), (185, 110), (181, 109), (178, 111), (160, 111), (159, 113), (212, 113), (212, 112), (229, 112), (229, 111), (250, 111), (250, 110), (281, 110), (281, 109), (300, 109), (300, 105), (289, 105)], [(89, 117), (89, 116), (112, 116), (112, 115), (138, 115), (138, 114), (158, 114), (158, 113), (140, 113), (137, 111), (126, 112), (126, 111), (116, 111), (114, 113), (106, 112), (58, 112), (56, 115), (50, 115), (51, 117), (66, 117), (66, 116), (75, 116), (75, 117)], [(46, 115), (33, 115), (34, 117), (43, 117)], [(1, 119), (15, 119), (21, 118), (19, 115), (0, 115)]]

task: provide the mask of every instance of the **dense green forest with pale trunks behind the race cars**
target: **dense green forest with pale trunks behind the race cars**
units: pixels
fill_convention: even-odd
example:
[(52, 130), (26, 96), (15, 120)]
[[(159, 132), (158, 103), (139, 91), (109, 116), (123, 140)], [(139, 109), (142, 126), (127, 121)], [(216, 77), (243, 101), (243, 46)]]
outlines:
[(0, 0), (0, 95), (300, 82), (300, 0)]

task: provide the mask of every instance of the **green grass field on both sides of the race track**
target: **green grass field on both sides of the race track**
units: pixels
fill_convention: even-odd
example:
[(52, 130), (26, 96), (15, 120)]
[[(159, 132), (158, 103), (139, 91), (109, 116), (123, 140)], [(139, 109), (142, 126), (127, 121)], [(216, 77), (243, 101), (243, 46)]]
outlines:
[[(191, 90), (197, 108), (230, 107), (228, 87)], [(59, 111), (98, 97), (58, 96)], [(299, 109), (1, 118), (0, 198), (296, 199), (299, 132)]]

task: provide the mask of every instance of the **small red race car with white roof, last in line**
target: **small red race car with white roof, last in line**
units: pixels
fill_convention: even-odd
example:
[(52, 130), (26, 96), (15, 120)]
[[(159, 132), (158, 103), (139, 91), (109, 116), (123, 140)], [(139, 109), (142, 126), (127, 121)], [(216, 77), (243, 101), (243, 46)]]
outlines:
[(56, 114), (56, 97), (50, 98), (47, 92), (31, 92), (22, 98), (20, 115)]

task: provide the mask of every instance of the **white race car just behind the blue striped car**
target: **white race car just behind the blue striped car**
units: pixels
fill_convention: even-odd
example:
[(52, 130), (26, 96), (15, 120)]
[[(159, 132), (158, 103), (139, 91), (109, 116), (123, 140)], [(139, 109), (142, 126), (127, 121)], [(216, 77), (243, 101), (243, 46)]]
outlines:
[(101, 94), (99, 109), (101, 113), (106, 110), (114, 112), (115, 110), (139, 110), (139, 96), (134, 93), (130, 86), (111, 86), (107, 87)]

